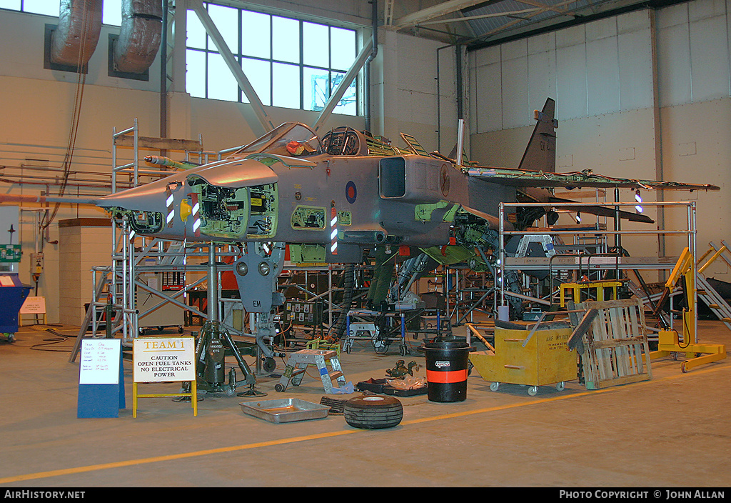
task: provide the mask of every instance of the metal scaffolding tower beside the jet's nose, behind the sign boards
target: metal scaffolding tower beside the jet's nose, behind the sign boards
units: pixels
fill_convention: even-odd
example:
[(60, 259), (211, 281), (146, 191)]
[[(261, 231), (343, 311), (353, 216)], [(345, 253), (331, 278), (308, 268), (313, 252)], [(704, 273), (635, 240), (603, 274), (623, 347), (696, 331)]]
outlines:
[[(132, 161), (119, 164), (119, 148), (132, 149)], [(140, 186), (174, 173), (170, 164), (160, 163), (151, 167), (140, 167), (140, 151), (154, 151), (158, 158), (164, 159), (169, 151), (183, 152), (185, 162), (191, 165), (208, 162), (213, 155), (203, 150), (202, 138), (198, 140), (179, 140), (175, 138), (148, 137), (140, 135), (139, 124), (135, 118), (134, 125), (122, 131), (115, 127), (112, 134), (112, 173), (111, 193), (118, 190)], [(121, 178), (126, 177), (126, 180)], [(121, 189), (120, 189), (121, 187)], [(195, 244), (181, 241), (169, 241), (159, 238), (135, 236), (129, 222), (118, 215), (111, 216), (112, 253), (111, 265), (92, 268), (91, 303), (89, 303), (75, 348), (69, 361), (74, 361), (81, 340), (99, 336), (99, 328), (105, 326), (106, 337), (121, 336), (123, 344), (131, 344), (140, 333), (140, 319), (165, 309), (164, 306), (176, 306), (179, 309), (194, 311), (206, 317), (194, 306), (184, 301), (186, 292), (198, 287), (206, 281), (205, 274), (200, 279), (189, 282), (187, 275), (197, 271), (206, 271), (205, 265), (189, 264), (192, 257), (207, 257), (208, 253), (197, 251), (197, 248), (214, 246), (213, 244)], [(232, 247), (221, 249), (218, 256), (235, 254)], [(154, 284), (140, 280), (140, 274), (159, 275), (162, 281)], [(139, 292), (149, 292), (159, 298), (152, 306), (145, 306), (140, 312), (137, 297)], [(90, 332), (90, 333), (89, 333)]]

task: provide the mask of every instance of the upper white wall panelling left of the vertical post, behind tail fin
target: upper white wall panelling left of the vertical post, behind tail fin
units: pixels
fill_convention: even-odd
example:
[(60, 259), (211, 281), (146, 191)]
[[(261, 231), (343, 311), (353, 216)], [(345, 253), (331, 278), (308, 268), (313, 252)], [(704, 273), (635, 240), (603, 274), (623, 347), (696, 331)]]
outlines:
[[(684, 18), (680, 14), (675, 17), (682, 26), (687, 14)], [(653, 106), (652, 44), (647, 11), (629, 12), (497, 48), (476, 51), (471, 68), (477, 71), (485, 64), (501, 65), (503, 127), (533, 124), (533, 110), (542, 106), (546, 97), (556, 99), (559, 118)], [(524, 88), (520, 59), (526, 53), (527, 88)], [(478, 83), (474, 93), (481, 94), (479, 89)], [(493, 98), (497, 97), (495, 91)], [(478, 101), (484, 102), (484, 97), (480, 96)], [(495, 124), (494, 120), (489, 126), (480, 121), (475, 131), (489, 131)]]

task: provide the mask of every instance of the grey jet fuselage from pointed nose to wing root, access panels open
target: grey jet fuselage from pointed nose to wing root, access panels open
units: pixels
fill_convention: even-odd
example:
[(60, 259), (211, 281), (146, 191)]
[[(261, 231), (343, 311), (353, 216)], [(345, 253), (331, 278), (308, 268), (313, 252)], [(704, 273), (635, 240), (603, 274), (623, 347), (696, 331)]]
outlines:
[[(365, 141), (360, 132), (347, 133)], [(463, 208), (496, 224), (501, 201), (515, 201), (515, 190), (470, 177), (444, 159), (260, 153), (176, 173), (97, 204), (128, 213), (141, 235), (321, 245), (328, 262), (359, 262), (362, 246), (447, 243)]]

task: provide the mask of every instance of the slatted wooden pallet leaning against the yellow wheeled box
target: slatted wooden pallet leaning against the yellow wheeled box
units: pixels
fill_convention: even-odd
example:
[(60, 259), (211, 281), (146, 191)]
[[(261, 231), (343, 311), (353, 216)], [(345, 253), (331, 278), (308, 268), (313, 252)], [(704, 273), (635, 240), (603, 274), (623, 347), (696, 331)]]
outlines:
[(641, 299), (587, 301), (569, 309), (586, 309), (587, 320), (593, 317), (588, 327), (574, 318), (576, 330), (586, 330), (581, 353), (586, 389), (652, 379)]

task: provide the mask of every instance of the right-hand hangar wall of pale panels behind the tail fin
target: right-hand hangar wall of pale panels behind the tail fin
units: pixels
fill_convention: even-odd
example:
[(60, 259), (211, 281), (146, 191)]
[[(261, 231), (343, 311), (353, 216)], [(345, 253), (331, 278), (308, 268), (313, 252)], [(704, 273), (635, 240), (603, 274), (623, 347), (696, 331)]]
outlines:
[[(517, 167), (533, 110), (552, 97), (556, 170), (718, 185), (720, 192), (666, 192), (664, 200), (696, 201), (699, 254), (730, 238), (730, 10), (728, 0), (694, 0), (658, 10), (654, 20), (648, 10), (629, 12), (469, 53), (473, 159)], [(681, 213), (666, 211), (664, 228), (685, 228)], [(668, 237), (664, 254), (686, 243)], [(623, 245), (650, 254), (647, 237)], [(651, 248), (662, 243), (653, 239)], [(724, 281), (729, 272), (721, 262), (709, 270)]]

